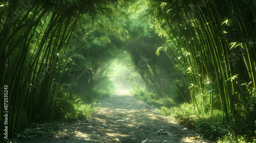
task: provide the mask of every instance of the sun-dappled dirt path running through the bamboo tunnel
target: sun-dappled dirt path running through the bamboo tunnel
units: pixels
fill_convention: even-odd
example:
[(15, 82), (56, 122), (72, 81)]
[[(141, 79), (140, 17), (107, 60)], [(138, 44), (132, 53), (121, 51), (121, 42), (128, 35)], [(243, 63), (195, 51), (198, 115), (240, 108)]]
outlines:
[(193, 129), (184, 128), (135, 99), (128, 90), (116, 90), (100, 102), (100, 109), (89, 120), (66, 124), (58, 129), (62, 133), (57, 136), (16, 142), (211, 142), (197, 138), (199, 134)]

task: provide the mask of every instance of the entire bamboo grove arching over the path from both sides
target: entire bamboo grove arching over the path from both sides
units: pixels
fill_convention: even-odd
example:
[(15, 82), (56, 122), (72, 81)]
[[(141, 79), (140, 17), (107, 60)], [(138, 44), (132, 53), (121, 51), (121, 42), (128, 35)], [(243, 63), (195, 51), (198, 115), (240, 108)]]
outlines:
[(60, 89), (92, 98), (121, 56), (155, 98), (192, 102), (199, 114), (222, 110), (222, 124), (255, 102), (253, 0), (3, 0), (0, 9), (10, 136), (56, 116)]

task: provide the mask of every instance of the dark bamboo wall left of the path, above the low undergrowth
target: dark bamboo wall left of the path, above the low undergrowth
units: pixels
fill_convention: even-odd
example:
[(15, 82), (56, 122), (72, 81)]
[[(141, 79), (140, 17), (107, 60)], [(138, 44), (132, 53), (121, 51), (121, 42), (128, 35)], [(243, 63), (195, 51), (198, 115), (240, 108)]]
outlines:
[[(1, 92), (8, 85), (9, 136), (20, 123), (53, 118), (58, 87), (78, 94), (100, 85), (106, 77), (105, 68), (113, 61), (109, 55), (113, 56), (114, 52), (109, 48), (99, 52), (100, 47), (110, 44), (111, 36), (101, 30), (103, 22), (95, 25), (95, 21), (110, 18), (116, 4), (115, 1), (111, 4), (108, 1), (3, 1)], [(110, 23), (109, 20), (104, 24)], [(110, 32), (116, 33), (115, 36), (122, 34), (124, 39), (125, 32), (119, 29), (112, 26)], [(3, 113), (2, 99), (4, 96), (1, 96)], [(3, 130), (1, 122), (1, 134)]]

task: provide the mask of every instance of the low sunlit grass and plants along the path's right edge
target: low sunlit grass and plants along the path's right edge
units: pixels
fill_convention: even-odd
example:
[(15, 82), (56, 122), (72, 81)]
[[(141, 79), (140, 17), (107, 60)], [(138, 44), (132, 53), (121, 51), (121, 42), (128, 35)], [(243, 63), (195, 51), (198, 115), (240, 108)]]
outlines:
[[(145, 101), (147, 104), (158, 108), (161, 115), (171, 116), (176, 122), (186, 127), (194, 128), (199, 132), (200, 137), (218, 142), (256, 142), (256, 99), (251, 98), (247, 108), (237, 104), (237, 116), (235, 120), (223, 122), (223, 110), (216, 108), (210, 110), (210, 103), (205, 103), (198, 99), (198, 106), (204, 110), (198, 112), (193, 103), (183, 103), (175, 105), (170, 98), (159, 98), (154, 93), (147, 93), (143, 89), (133, 89), (131, 91), (137, 99)], [(200, 95), (196, 95), (200, 96)], [(201, 95), (202, 96), (202, 95)], [(172, 106), (166, 106), (172, 105)], [(204, 109), (204, 107), (208, 107)], [(224, 115), (225, 118), (225, 115)], [(185, 125), (186, 124), (186, 125)]]

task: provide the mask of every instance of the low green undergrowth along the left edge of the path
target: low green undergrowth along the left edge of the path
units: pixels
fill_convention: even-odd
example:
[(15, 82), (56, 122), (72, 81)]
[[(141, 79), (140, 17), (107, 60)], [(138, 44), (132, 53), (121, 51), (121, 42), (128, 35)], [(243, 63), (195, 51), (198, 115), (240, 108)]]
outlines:
[(90, 93), (73, 94), (60, 87), (55, 92), (52, 118), (41, 120), (42, 117), (36, 115), (31, 123), (26, 122), (26, 125), (16, 130), (11, 140), (15, 142), (16, 140), (34, 139), (42, 135), (61, 135), (63, 132), (59, 129), (63, 125), (89, 119), (92, 111), (99, 107), (99, 101), (108, 97), (112, 92), (111, 90), (93, 90)]

